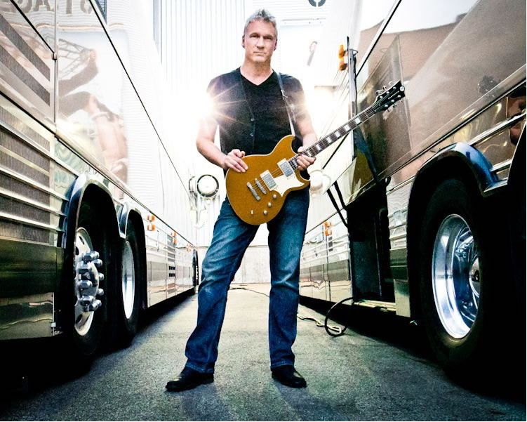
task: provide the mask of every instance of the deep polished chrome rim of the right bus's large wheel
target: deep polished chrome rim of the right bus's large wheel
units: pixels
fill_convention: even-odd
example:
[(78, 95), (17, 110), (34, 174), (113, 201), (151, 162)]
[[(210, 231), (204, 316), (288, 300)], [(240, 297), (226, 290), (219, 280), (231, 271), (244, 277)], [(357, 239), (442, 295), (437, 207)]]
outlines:
[(432, 255), (436, 310), (446, 332), (465, 337), (474, 321), (480, 293), (479, 251), (467, 221), (451, 214), (439, 225)]

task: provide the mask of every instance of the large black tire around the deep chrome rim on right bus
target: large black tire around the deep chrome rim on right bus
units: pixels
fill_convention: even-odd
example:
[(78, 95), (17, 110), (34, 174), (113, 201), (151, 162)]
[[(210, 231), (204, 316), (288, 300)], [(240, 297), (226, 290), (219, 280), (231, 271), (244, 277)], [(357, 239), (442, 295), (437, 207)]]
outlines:
[[(505, 318), (505, 302), (500, 301), (498, 299), (500, 295), (497, 296), (496, 293), (498, 286), (500, 286), (500, 289), (507, 289), (506, 284), (510, 280), (507, 279), (507, 275), (498, 272), (498, 269), (502, 269), (505, 265), (499, 265), (500, 253), (496, 246), (499, 247), (500, 243), (496, 242), (497, 239), (495, 239), (497, 228), (491, 228), (492, 224), (489, 223), (492, 223), (492, 220), (486, 218), (488, 215), (487, 209), (488, 204), (483, 203), (479, 194), (470, 192), (465, 183), (457, 179), (446, 180), (436, 187), (432, 194), (420, 226), (418, 269), (422, 322), (425, 324), (429, 343), (437, 359), (453, 375), (456, 373), (471, 374), (470, 376), (474, 377), (474, 375), (481, 373), (481, 365), (484, 364), (486, 368), (489, 368), (491, 362), (499, 363), (499, 355), (496, 354), (498, 346), (500, 348), (507, 347), (505, 345), (507, 339), (505, 333), (506, 324), (500, 322)], [(496, 220), (496, 216), (494, 216), (494, 220)], [(438, 308), (441, 307), (436, 305), (436, 300), (442, 303), (442, 287), (441, 282), (436, 282), (435, 291), (439, 291), (436, 299), (433, 287), (434, 276), (432, 275), (434, 263), (438, 264), (436, 268), (441, 268), (441, 253), (437, 253), (436, 257), (433, 258), (438, 230), (443, 230), (443, 228), (448, 227), (449, 222), (456, 221), (461, 225), (463, 224), (462, 221), (467, 224), (474, 240), (473, 251), (479, 254), (479, 271), (474, 271), (474, 274), (477, 272), (479, 275), (479, 283), (474, 282), (475, 277), (472, 277), (472, 279), (467, 277), (467, 280), (472, 280), (472, 282), (467, 282), (468, 286), (479, 286), (479, 303), (477, 303), (475, 319), (472, 324), (467, 324), (469, 330), (465, 335), (463, 335), (462, 330), (454, 335), (451, 334), (452, 332), (455, 333), (453, 330), (450, 330), (449, 333), (446, 329), (447, 326), (451, 328), (448, 325), (448, 318), (443, 317), (443, 320), (447, 322), (441, 322), (439, 315), (441, 312), (438, 311)], [(455, 238), (455, 236), (452, 236), (452, 238)], [(443, 237), (442, 239), (444, 244), (445, 238)], [(441, 242), (438, 245), (441, 248)], [(453, 248), (453, 250), (460, 251), (460, 248)], [(446, 256), (448, 255), (446, 254)], [(457, 260), (458, 258), (452, 260), (453, 272), (456, 272), (459, 268), (469, 268), (469, 266), (463, 267), (462, 264), (456, 268)], [(448, 258), (445, 258), (444, 261), (448, 262)], [(472, 266), (470, 268), (474, 270), (474, 268), (477, 269), (478, 267)], [(463, 274), (462, 270), (459, 270), (457, 274)], [(441, 280), (440, 277), (435, 279)], [(463, 279), (463, 277), (453, 277), (453, 279)], [(453, 285), (455, 286), (456, 284), (453, 283)], [(459, 285), (462, 285), (462, 283), (459, 283)], [(448, 289), (445, 289), (445, 291), (448, 291)], [(463, 295), (460, 294), (460, 296)], [(474, 290), (469, 291), (467, 296), (476, 297), (474, 296)], [(454, 307), (453, 313), (455, 314), (456, 310), (458, 310), (459, 315), (461, 315), (467, 308), (469, 307), (465, 305), (460, 305), (459, 308)], [(447, 309), (442, 311), (443, 315), (445, 315), (445, 312), (448, 312), (448, 307), (443, 309)], [(474, 307), (472, 310), (474, 310)], [(463, 319), (463, 321), (465, 320)], [(498, 338), (500, 341), (497, 341)]]

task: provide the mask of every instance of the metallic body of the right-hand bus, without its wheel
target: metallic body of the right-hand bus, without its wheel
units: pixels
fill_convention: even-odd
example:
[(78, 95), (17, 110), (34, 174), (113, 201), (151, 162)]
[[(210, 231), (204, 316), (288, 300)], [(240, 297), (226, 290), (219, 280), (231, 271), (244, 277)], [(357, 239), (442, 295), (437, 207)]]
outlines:
[[(323, 163), (326, 171), (345, 169), (333, 181), (342, 191), (351, 235), (363, 236), (353, 242), (350, 256), (340, 261), (342, 268), (347, 260), (351, 263), (348, 279), (338, 282), (347, 283), (347, 296), (354, 296), (357, 305), (415, 317), (419, 299), (411, 297), (415, 280), (408, 275), (412, 237), (408, 227), (423, 211), (420, 199), (431, 194), (432, 187), (427, 185), (448, 178), (453, 166), (459, 166), (472, 174), (481, 197), (503, 191), (514, 166), (516, 145), (525, 142), (524, 134), (520, 138), (525, 126), (526, 5), (491, 0), (465, 4), (466, 11), (457, 18), (420, 27), (410, 15), (429, 15), (427, 10), (440, 14), (451, 6), (398, 0), (385, 20), (361, 32), (356, 111), (373, 103), (375, 92), (390, 81), (403, 81), (406, 98), (399, 107), (361, 126), (378, 179), (387, 184), (375, 184), (361, 150), (345, 159), (335, 158), (337, 151)], [(337, 78), (334, 98), (347, 97), (344, 73)], [(352, 144), (351, 138), (342, 150)], [(525, 157), (515, 159), (523, 160), (524, 168)], [(309, 253), (317, 236), (319, 244), (331, 240), (323, 235), (323, 223), (340, 221), (326, 196), (311, 204), (300, 263), (301, 294), (337, 302), (343, 298), (342, 289), (333, 294), (330, 272), (323, 266), (328, 265), (330, 254), (314, 259)], [(371, 230), (361, 232), (366, 225), (372, 225)], [(418, 232), (415, 227), (414, 232)], [(361, 242), (373, 244), (375, 252), (361, 250)], [(321, 289), (316, 289), (317, 284)]]

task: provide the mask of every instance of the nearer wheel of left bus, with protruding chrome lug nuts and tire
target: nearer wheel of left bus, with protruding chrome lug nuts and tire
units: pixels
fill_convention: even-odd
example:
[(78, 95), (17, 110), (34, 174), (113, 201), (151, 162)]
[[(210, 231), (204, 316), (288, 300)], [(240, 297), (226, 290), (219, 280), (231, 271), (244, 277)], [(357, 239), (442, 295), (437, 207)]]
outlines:
[[(105, 322), (103, 309), (106, 263), (104, 235), (91, 218), (91, 208), (81, 208), (74, 244), (74, 327), (72, 340), (76, 352), (89, 357), (98, 348)], [(101, 259), (102, 258), (102, 259)]]

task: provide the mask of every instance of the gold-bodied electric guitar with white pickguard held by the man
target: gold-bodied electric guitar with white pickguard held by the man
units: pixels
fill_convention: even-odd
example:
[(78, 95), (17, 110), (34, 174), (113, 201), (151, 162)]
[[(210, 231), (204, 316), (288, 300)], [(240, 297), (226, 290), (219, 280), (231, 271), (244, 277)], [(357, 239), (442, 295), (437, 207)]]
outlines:
[[(401, 81), (385, 88), (370, 107), (300, 154), (314, 157), (364, 121), (371, 119), (374, 114), (387, 110), (403, 97), (404, 86)], [(300, 176), (297, 162), (300, 154), (295, 154), (292, 148), (294, 138), (293, 135), (284, 136), (270, 154), (244, 157), (248, 166), (245, 173), (238, 173), (232, 169), (227, 171), (227, 197), (241, 220), (253, 225), (267, 223), (279, 213), (289, 192), (309, 185), (309, 180)]]

